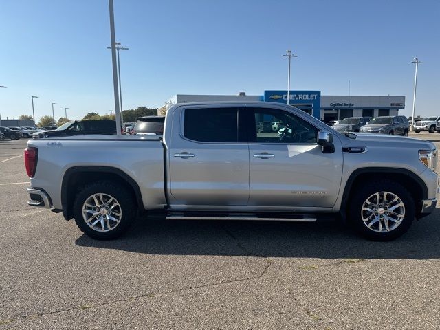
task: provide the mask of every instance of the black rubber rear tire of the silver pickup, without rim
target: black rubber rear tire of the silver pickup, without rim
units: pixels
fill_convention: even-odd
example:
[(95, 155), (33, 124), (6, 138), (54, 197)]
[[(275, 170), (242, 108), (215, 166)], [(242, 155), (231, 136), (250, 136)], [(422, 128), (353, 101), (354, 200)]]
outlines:
[[(120, 204), (122, 216), (120, 222), (114, 229), (108, 232), (98, 232), (87, 225), (83, 219), (83, 204), (91, 195), (103, 193), (114, 197)], [(94, 184), (84, 186), (75, 197), (74, 219), (78, 228), (93, 239), (107, 240), (115, 239), (124, 234), (130, 225), (135, 221), (137, 206), (131, 192), (124, 186), (113, 184), (111, 181), (98, 181)]]

